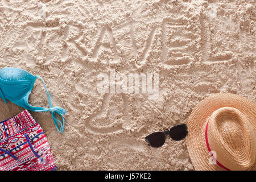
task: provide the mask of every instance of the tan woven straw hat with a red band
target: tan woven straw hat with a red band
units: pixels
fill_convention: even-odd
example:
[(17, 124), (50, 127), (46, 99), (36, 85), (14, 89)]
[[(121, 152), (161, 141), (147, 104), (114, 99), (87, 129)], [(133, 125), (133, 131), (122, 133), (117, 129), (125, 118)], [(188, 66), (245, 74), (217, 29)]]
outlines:
[(187, 127), (196, 170), (256, 170), (256, 105), (247, 98), (212, 94), (193, 109)]

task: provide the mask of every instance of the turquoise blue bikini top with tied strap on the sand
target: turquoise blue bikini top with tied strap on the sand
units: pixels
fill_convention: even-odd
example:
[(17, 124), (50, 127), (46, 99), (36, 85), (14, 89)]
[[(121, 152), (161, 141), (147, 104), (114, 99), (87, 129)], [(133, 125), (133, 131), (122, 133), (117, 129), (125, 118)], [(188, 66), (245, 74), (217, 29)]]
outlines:
[[(24, 107), (25, 109), (32, 111), (51, 111), (53, 122), (57, 130), (60, 133), (63, 133), (64, 129), (64, 117), (66, 110), (61, 107), (52, 107), (51, 97), (48, 93), (46, 85), (44, 84), (44, 88), (46, 89), (49, 108), (46, 107), (33, 107), (28, 104), (28, 97), (34, 87), (36, 78), (42, 80), (43, 78), (40, 76), (32, 75), (31, 73), (24, 71), (19, 68), (3, 68), (0, 69), (0, 97), (7, 103), (6, 99), (13, 102), (20, 107)], [(55, 113), (59, 114), (62, 118), (62, 122), (55, 118)], [(58, 123), (60, 127), (58, 126)]]

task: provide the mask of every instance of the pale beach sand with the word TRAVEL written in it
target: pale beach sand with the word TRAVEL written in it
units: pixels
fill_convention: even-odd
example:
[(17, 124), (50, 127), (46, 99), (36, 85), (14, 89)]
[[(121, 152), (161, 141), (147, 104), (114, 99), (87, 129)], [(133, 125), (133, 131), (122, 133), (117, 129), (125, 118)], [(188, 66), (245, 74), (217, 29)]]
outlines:
[[(59, 170), (194, 170), (185, 140), (144, 137), (186, 123), (212, 93), (256, 102), (255, 1), (0, 1), (0, 69), (40, 75), (64, 133), (35, 113)], [(100, 73), (158, 73), (159, 96), (98, 93)], [(1, 121), (22, 107), (0, 100)], [(29, 98), (48, 107), (36, 80)]]

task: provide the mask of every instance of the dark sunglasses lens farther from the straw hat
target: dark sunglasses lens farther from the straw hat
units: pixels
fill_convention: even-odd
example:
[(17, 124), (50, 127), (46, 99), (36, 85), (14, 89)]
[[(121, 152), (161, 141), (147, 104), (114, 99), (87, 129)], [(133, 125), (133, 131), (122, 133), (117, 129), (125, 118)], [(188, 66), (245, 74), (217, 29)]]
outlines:
[(148, 135), (145, 139), (151, 147), (155, 148), (161, 147), (164, 142), (166, 142), (166, 136), (163, 134), (163, 132), (152, 133)]

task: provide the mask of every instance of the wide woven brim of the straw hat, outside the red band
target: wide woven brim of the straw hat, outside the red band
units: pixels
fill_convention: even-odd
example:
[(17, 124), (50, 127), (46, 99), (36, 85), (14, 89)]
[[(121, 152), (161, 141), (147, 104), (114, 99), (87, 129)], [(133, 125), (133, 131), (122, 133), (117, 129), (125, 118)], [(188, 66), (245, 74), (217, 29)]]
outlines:
[[(254, 134), (256, 134), (256, 105), (253, 102), (245, 97), (231, 93), (210, 95), (199, 102), (187, 121), (188, 134), (186, 144), (189, 157), (196, 170), (224, 170), (217, 164), (210, 164), (209, 162), (210, 155), (205, 141), (205, 127), (207, 119), (212, 115), (213, 111), (225, 106), (234, 107), (245, 114), (254, 129)], [(249, 170), (256, 170), (255, 163)]]

